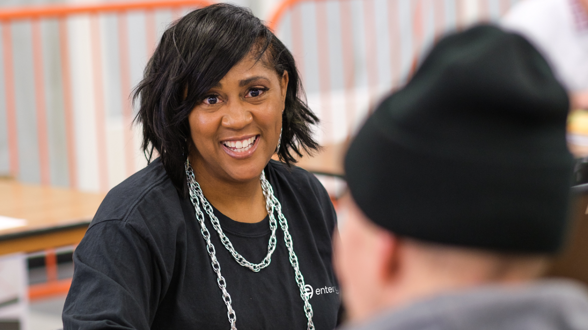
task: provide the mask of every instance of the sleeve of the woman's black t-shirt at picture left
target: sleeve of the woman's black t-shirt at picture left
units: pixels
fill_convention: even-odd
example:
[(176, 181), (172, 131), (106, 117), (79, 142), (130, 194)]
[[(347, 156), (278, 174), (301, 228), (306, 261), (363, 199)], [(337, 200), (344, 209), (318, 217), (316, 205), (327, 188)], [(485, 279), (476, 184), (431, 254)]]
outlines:
[(149, 245), (128, 223), (101, 221), (74, 252), (64, 329), (149, 329), (161, 276)]

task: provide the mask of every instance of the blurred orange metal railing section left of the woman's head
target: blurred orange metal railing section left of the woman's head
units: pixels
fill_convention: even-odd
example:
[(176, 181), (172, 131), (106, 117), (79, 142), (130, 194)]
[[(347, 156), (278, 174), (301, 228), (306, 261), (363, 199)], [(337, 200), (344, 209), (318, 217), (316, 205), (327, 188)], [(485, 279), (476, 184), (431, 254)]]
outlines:
[[(9, 150), (9, 169), (10, 174), (18, 179), (27, 180), (26, 177), (19, 176), (23, 164), (21, 161), (21, 154), (29, 152), (23, 150), (19, 146), (19, 134), (17, 123), (17, 102), (15, 97), (15, 72), (14, 72), (14, 40), (12, 38), (12, 26), (15, 22), (28, 22), (31, 29), (31, 46), (32, 46), (32, 70), (34, 72), (34, 84), (29, 93), (35, 99), (35, 119), (36, 119), (36, 144), (35, 153), (38, 154), (39, 167), (39, 182), (41, 184), (55, 184), (51, 179), (51, 146), (49, 146), (48, 139), (48, 111), (46, 94), (46, 79), (45, 72), (47, 70), (44, 59), (43, 49), (43, 33), (42, 22), (57, 21), (58, 22), (58, 43), (59, 43), (59, 66), (61, 67), (62, 80), (62, 95), (59, 96), (63, 100), (64, 113), (64, 134), (66, 141), (66, 159), (68, 167), (68, 183), (72, 188), (80, 188), (79, 186), (79, 157), (82, 157), (76, 151), (76, 134), (75, 134), (75, 109), (72, 104), (72, 66), (71, 66), (71, 42), (68, 38), (68, 19), (85, 16), (90, 21), (90, 36), (91, 39), (91, 53), (94, 56), (92, 60), (92, 76), (93, 76), (93, 93), (95, 94), (95, 130), (96, 130), (96, 146), (98, 155), (97, 175), (99, 177), (99, 184), (97, 190), (108, 190), (112, 183), (109, 183), (109, 165), (108, 152), (106, 146), (106, 109), (102, 95), (104, 94), (103, 86), (106, 83), (103, 76), (103, 59), (101, 58), (103, 46), (101, 43), (101, 26), (99, 18), (105, 14), (112, 14), (117, 16), (118, 25), (118, 48), (119, 48), (119, 62), (121, 73), (121, 99), (122, 99), (122, 115), (124, 118), (123, 126), (123, 141), (125, 144), (125, 175), (128, 176), (136, 171), (134, 154), (136, 153), (134, 145), (130, 143), (132, 140), (132, 132), (130, 124), (132, 120), (132, 109), (128, 100), (131, 92), (131, 79), (129, 73), (129, 58), (128, 49), (128, 14), (131, 12), (141, 12), (145, 16), (145, 38), (148, 49), (146, 54), (149, 55), (155, 45), (156, 39), (156, 23), (155, 12), (163, 9), (171, 9), (176, 11), (176, 16), (182, 8), (193, 8), (198, 6), (205, 6), (211, 4), (206, 0), (169, 0), (169, 1), (150, 1), (150, 2), (121, 2), (114, 4), (95, 4), (95, 5), (59, 5), (59, 6), (38, 6), (25, 7), (15, 9), (3, 9), (0, 11), (0, 21), (2, 29), (2, 55), (4, 69), (4, 85), (5, 85), (5, 107), (6, 107), (6, 130), (8, 137)], [(20, 56), (21, 54), (16, 54)], [(52, 96), (56, 97), (56, 96)], [(83, 112), (82, 112), (83, 113)], [(79, 116), (79, 115), (78, 115)], [(22, 123), (21, 123), (22, 125)], [(78, 148), (79, 149), (79, 146)], [(55, 167), (55, 166), (54, 166)], [(111, 180), (112, 181), (112, 180)], [(86, 188), (87, 187), (81, 187)]]

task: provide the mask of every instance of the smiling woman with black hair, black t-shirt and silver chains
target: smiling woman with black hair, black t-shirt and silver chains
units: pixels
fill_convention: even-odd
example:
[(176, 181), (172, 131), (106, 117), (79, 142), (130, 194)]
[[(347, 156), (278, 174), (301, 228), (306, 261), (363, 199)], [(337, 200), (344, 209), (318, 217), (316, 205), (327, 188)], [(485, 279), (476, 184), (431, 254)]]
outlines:
[(76, 248), (65, 329), (335, 328), (335, 211), (291, 166), (319, 149), (302, 94), (292, 54), (247, 9), (173, 23), (134, 95), (150, 164)]

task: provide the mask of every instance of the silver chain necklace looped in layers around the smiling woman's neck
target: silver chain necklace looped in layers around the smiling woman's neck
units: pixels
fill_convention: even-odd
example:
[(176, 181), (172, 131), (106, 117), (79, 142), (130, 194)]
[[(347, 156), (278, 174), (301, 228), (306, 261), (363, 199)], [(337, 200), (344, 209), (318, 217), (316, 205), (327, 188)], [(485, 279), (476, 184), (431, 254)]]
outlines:
[(220, 264), (218, 260), (216, 260), (216, 251), (214, 245), (211, 243), (211, 234), (209, 233), (208, 229), (206, 229), (206, 225), (204, 222), (204, 213), (200, 208), (200, 204), (202, 203), (202, 207), (208, 214), (209, 218), (211, 219), (212, 227), (215, 228), (216, 232), (219, 234), (221, 243), (225, 246), (226, 250), (230, 252), (236, 262), (243, 267), (249, 268), (254, 272), (258, 272), (265, 267), (268, 267), (273, 251), (276, 248), (276, 228), (277, 221), (274, 217), (274, 211), (278, 212), (278, 218), (280, 227), (284, 232), (284, 241), (286, 243), (286, 247), (288, 248), (289, 260), (290, 264), (292, 264), (292, 268), (294, 269), (294, 274), (296, 277), (296, 283), (298, 284), (298, 288), (300, 289), (300, 297), (304, 301), (304, 312), (306, 314), (306, 318), (308, 319), (308, 328), (307, 330), (314, 330), (315, 325), (312, 323), (312, 306), (310, 306), (310, 302), (308, 301), (308, 295), (305, 292), (305, 283), (304, 278), (302, 277), (302, 273), (300, 272), (300, 267), (298, 265), (298, 257), (294, 253), (294, 247), (292, 243), (292, 236), (288, 231), (288, 223), (286, 222), (286, 218), (282, 214), (282, 205), (278, 201), (273, 194), (273, 188), (269, 184), (268, 180), (265, 178), (263, 171), (259, 177), (261, 180), (261, 187), (263, 191), (263, 197), (265, 197), (265, 208), (269, 215), (269, 228), (272, 231), (272, 235), (270, 235), (269, 243), (268, 243), (268, 254), (265, 258), (263, 258), (262, 262), (259, 264), (252, 264), (251, 262), (245, 260), (242, 255), (240, 255), (235, 248), (233, 248), (233, 244), (230, 243), (229, 238), (226, 237), (225, 233), (223, 233), (222, 228), (220, 228), (220, 223), (218, 218), (214, 215), (212, 211), (212, 206), (208, 203), (208, 200), (204, 197), (202, 193), (202, 189), (196, 179), (194, 177), (194, 171), (192, 170), (192, 166), (188, 160), (185, 163), (186, 167), (186, 176), (188, 177), (188, 187), (190, 190), (190, 200), (192, 201), (192, 205), (196, 210), (196, 219), (201, 227), (202, 237), (206, 241), (206, 251), (208, 255), (211, 257), (211, 264), (212, 270), (216, 272), (216, 282), (219, 285), (220, 291), (222, 291), (222, 299), (225, 302), (227, 308), (227, 316), (229, 317), (230, 322), (230, 329), (237, 330), (235, 326), (236, 321), (236, 314), (231, 306), (231, 300), (229, 292), (226, 291), (226, 281), (225, 278), (220, 274)]

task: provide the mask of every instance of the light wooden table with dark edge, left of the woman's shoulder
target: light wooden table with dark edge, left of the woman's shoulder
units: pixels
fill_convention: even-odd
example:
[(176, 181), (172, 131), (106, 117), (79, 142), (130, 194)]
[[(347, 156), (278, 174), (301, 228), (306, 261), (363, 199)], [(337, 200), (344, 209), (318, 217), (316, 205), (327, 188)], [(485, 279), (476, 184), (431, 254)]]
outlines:
[(0, 255), (78, 244), (104, 196), (0, 179), (0, 215), (27, 221), (0, 230)]

